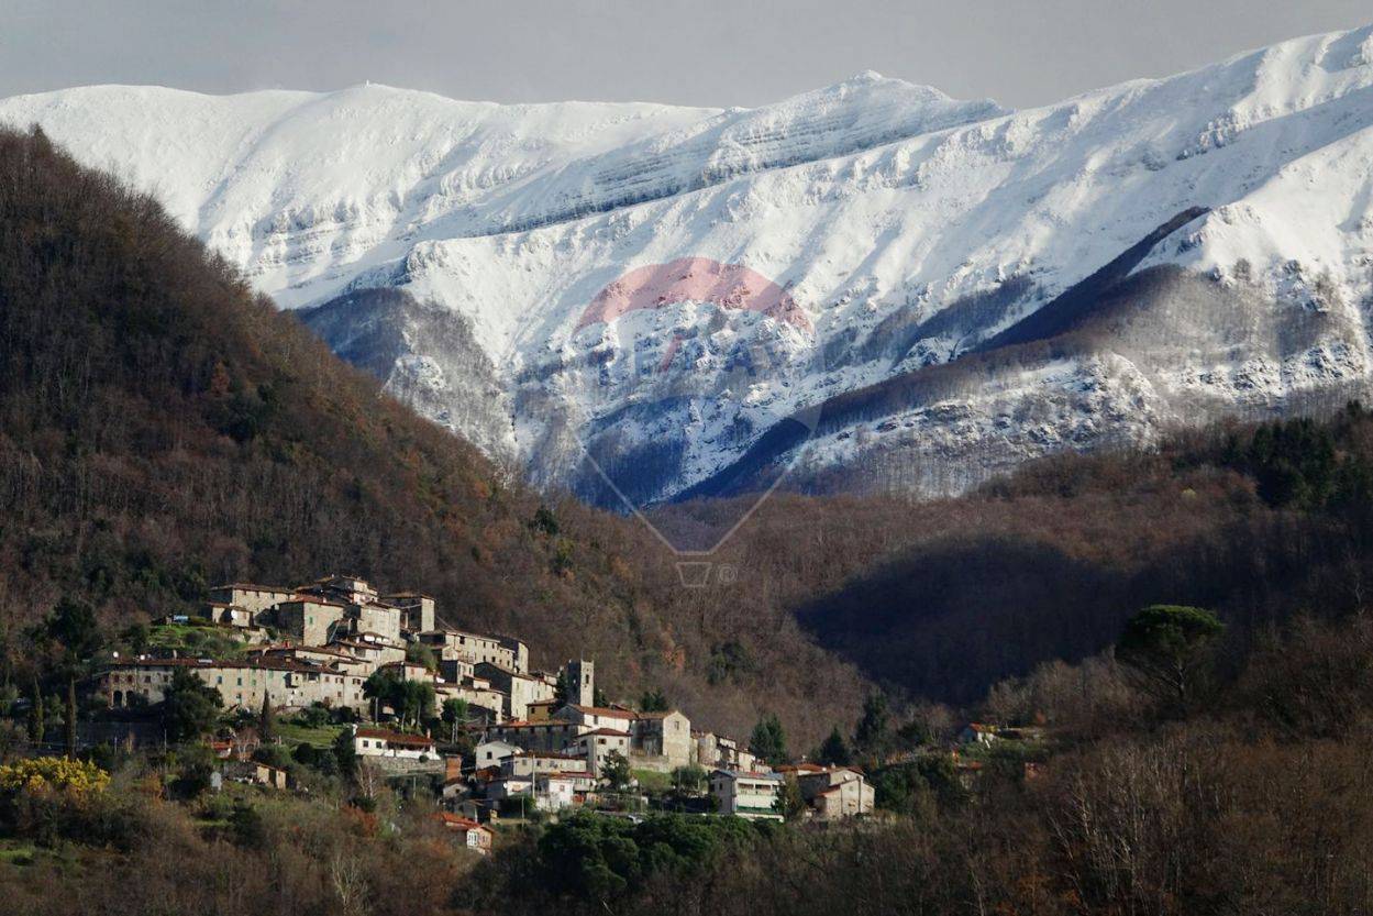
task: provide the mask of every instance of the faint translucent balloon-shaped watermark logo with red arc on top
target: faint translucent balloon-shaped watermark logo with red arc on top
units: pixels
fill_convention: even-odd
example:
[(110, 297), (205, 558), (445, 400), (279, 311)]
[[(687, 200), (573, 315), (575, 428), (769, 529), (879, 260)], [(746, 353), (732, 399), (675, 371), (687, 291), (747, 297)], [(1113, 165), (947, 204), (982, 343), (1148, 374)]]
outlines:
[[(822, 368), (806, 310), (748, 266), (678, 258), (605, 284), (574, 339), (596, 372), (599, 402), (577, 430), (596, 501), (634, 515), (673, 551), (682, 585), (735, 582), (737, 569), (714, 555), (783, 482), (818, 422), (818, 408), (803, 405)], [(682, 481), (714, 499), (674, 501)]]

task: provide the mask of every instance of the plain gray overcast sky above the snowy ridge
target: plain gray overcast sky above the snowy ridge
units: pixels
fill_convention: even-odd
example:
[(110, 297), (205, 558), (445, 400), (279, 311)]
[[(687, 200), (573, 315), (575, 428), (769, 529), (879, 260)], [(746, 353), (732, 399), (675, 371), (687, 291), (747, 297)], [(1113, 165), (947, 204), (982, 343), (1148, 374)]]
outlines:
[(872, 69), (1026, 107), (1368, 22), (1369, 0), (0, 0), (0, 96), (371, 80), (755, 106)]

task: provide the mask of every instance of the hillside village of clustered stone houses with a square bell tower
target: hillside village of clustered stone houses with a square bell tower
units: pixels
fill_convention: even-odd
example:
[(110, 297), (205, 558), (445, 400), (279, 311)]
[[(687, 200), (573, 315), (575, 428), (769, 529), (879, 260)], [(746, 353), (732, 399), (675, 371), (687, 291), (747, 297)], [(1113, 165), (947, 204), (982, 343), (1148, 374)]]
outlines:
[[(163, 621), (189, 623), (232, 636), (242, 654), (113, 658), (92, 681), (99, 702), (111, 710), (161, 703), (184, 672), (229, 711), (321, 710), (347, 722), (351, 753), (383, 779), (430, 776), (438, 816), (478, 849), (490, 842), (485, 825), (512, 812), (641, 808), (637, 790), (652, 775), (695, 788), (702, 812), (754, 820), (783, 820), (788, 781), (809, 818), (873, 809), (873, 788), (855, 768), (773, 769), (739, 740), (692, 728), (682, 710), (607, 702), (590, 659), (533, 670), (526, 643), (449, 626), (417, 592), (379, 593), (353, 575), (295, 588), (236, 582), (210, 589), (199, 619)], [(406, 695), (430, 709), (398, 709), (406, 700), (395, 698)], [(448, 735), (422, 731), (434, 706)], [(231, 737), (214, 748), (229, 777), (287, 787), (284, 770), (253, 758), (253, 742)]]

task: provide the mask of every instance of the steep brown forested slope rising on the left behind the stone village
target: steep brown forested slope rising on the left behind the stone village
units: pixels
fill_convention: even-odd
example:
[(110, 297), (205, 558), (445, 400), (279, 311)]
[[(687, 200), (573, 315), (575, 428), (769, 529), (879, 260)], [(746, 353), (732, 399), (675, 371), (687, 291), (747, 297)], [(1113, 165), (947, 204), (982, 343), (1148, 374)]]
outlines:
[(114, 633), (221, 581), (339, 571), (740, 735), (768, 710), (816, 739), (861, 696), (778, 603), (684, 595), (637, 523), (540, 511), (41, 133), (0, 133), (0, 503), (5, 678), (62, 599)]

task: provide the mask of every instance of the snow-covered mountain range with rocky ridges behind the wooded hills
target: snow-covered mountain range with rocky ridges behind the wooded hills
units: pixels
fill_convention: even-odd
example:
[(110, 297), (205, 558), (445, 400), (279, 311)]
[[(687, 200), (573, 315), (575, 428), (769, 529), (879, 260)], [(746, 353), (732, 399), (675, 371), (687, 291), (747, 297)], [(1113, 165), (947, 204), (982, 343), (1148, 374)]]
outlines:
[(1373, 27), (1027, 111), (865, 73), (755, 110), (93, 87), (0, 122), (607, 503), (794, 460), (950, 490), (1369, 379)]

